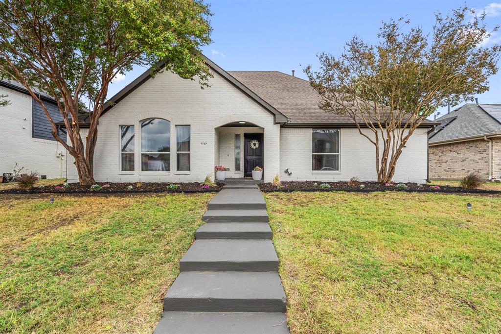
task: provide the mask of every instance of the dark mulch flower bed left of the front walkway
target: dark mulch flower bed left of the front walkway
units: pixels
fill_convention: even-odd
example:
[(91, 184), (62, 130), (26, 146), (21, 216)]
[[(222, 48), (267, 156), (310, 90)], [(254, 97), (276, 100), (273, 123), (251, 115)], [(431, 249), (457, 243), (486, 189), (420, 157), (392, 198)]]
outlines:
[[(123, 194), (123, 193), (213, 193), (222, 189), (222, 184), (216, 187), (203, 187), (198, 182), (191, 183), (97, 183), (101, 189), (91, 190), (91, 186), (81, 186), (78, 183), (70, 183), (68, 188), (63, 184), (57, 186), (35, 187), (31, 189), (8, 189), (0, 191), (0, 194)], [(171, 186), (173, 185), (173, 186)], [(129, 189), (129, 186), (132, 186)], [(170, 188), (169, 188), (170, 186)], [(179, 186), (179, 187), (176, 187)]]

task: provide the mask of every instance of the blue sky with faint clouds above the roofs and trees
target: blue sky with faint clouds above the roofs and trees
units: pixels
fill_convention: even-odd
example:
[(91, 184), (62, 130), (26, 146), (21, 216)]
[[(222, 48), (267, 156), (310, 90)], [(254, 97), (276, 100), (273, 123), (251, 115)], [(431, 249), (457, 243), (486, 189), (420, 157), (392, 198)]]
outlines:
[[(306, 78), (302, 66), (318, 66), (316, 54), (339, 54), (353, 35), (375, 43), (382, 21), (407, 16), (412, 26), (429, 31), (434, 13), (464, 6), (451, 1), (206, 1), (214, 16), (213, 43), (203, 53), (225, 70), (277, 70)], [(489, 29), (501, 24), (501, 3), (470, 1), (466, 5), (486, 9)], [(489, 43), (501, 42), (501, 33)], [(110, 86), (109, 97), (139, 76), (136, 68)], [(489, 80), (490, 90), (480, 103), (501, 103), (501, 73)], [(446, 108), (439, 110), (446, 113)]]

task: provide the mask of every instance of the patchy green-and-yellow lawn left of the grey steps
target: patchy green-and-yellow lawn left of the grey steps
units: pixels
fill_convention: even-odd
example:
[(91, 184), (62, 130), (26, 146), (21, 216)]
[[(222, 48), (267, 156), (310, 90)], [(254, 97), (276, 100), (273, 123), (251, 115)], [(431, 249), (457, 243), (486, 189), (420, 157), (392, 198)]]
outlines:
[(151, 332), (212, 196), (0, 196), (0, 332)]

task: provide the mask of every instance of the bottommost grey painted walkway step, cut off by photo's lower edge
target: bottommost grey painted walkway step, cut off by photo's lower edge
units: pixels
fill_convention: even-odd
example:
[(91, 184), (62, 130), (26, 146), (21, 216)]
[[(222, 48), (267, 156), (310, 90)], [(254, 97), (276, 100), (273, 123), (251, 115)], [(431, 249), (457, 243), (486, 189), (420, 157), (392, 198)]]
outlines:
[(164, 312), (153, 334), (289, 334), (284, 313)]

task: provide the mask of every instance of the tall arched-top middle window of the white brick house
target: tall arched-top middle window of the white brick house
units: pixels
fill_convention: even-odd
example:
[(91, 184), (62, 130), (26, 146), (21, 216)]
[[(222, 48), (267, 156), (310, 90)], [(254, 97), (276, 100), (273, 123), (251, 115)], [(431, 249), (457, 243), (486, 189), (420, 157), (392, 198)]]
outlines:
[(170, 171), (170, 122), (161, 118), (141, 121), (141, 171)]

